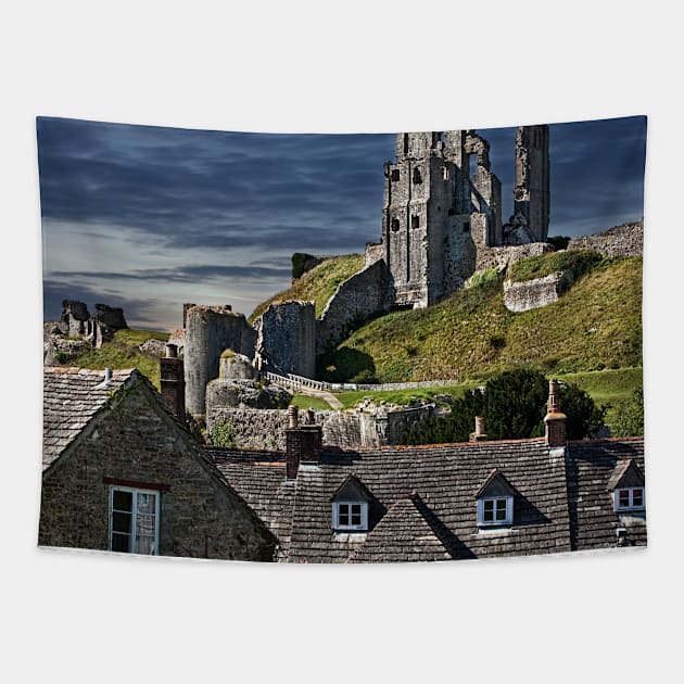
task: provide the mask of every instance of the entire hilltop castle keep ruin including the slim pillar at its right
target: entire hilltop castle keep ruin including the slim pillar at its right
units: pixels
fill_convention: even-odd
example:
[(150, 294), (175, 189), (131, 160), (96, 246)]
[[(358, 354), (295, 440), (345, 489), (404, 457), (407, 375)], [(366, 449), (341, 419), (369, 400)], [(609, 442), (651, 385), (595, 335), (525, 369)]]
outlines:
[(548, 166), (548, 127), (518, 128), (515, 214), (503, 226), (502, 185), (484, 138), (398, 134), (396, 161), (384, 166), (382, 242), (367, 245), (366, 266), (384, 261), (395, 306), (433, 304), (476, 268), (515, 256), (495, 254), (498, 248), (546, 241)]

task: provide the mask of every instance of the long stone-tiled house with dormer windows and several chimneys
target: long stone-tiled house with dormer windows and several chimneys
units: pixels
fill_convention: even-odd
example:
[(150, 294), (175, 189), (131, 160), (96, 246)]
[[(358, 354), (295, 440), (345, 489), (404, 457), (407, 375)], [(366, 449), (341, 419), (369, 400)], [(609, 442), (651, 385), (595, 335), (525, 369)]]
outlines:
[(468, 443), (343, 449), (294, 417), (284, 453), (207, 451), (283, 562), (645, 546), (643, 438), (567, 442), (565, 423), (552, 389), (545, 438), (487, 441), (480, 420)]

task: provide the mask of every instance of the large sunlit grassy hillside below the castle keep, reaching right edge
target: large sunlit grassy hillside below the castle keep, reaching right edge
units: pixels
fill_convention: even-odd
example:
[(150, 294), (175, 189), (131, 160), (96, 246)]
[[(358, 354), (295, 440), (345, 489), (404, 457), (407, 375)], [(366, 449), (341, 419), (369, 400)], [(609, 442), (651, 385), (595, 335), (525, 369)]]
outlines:
[(330, 381), (484, 378), (528, 364), (572, 373), (642, 365), (642, 258), (603, 259), (558, 302), (506, 309), (501, 277), (367, 322), (319, 357)]

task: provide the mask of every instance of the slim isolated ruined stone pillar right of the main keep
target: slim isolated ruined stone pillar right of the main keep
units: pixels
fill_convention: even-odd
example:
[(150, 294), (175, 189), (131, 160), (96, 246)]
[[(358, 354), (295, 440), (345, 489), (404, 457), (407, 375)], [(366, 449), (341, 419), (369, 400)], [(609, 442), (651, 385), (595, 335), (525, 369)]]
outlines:
[(548, 237), (548, 126), (520, 126), (516, 134), (516, 179), (511, 223), (522, 227), (530, 242)]

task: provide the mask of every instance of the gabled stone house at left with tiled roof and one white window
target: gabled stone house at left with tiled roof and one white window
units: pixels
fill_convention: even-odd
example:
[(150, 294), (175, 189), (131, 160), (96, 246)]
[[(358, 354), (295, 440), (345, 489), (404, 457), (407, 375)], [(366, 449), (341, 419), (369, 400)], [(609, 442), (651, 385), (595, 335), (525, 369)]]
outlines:
[(39, 545), (273, 560), (276, 536), (144, 376), (43, 372)]

